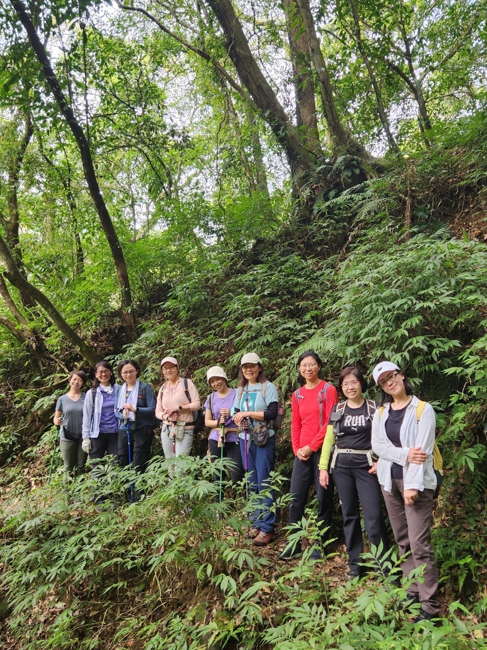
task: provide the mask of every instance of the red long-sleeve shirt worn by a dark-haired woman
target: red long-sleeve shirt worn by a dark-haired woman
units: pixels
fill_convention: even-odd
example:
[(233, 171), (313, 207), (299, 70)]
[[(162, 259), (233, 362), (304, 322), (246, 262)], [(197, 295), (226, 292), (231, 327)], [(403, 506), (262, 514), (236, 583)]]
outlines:
[[(325, 405), (318, 401), (319, 392), (323, 389), (326, 382), (319, 382), (318, 386), (308, 389), (301, 387), (299, 400), (296, 399), (296, 393), (292, 396), (292, 415), (291, 415), (291, 441), (294, 455), (301, 447), (312, 448), (318, 451), (323, 445), (323, 438), (327, 432), (330, 414), (338, 402), (336, 388), (328, 385), (325, 396)], [(298, 403), (299, 402), (299, 403)], [(323, 413), (321, 429), (319, 428), (319, 409)]]

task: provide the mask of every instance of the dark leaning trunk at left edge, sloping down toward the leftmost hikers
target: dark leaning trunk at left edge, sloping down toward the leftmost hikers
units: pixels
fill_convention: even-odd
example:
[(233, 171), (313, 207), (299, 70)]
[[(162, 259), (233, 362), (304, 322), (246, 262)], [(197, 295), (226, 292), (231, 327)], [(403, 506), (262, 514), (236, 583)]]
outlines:
[(101, 361), (94, 348), (88, 345), (88, 343), (85, 343), (85, 341), (83, 341), (81, 337), (77, 335), (73, 328), (71, 328), (66, 320), (64, 320), (64, 318), (60, 315), (49, 298), (47, 298), (47, 296), (45, 296), (42, 291), (40, 291), (37, 287), (34, 287), (34, 285), (32, 285), (29, 281), (27, 281), (27, 279), (24, 278), (24, 276), (19, 271), (14, 258), (12, 257), (12, 253), (10, 253), (10, 250), (8, 249), (5, 239), (3, 239), (1, 235), (0, 259), (3, 262), (3, 265), (5, 265), (5, 278), (8, 279), (8, 281), (14, 285), (14, 287), (17, 287), (19, 291), (24, 291), (25, 293), (32, 296), (32, 298), (46, 311), (47, 315), (59, 328), (61, 333), (64, 334), (66, 339), (68, 339), (70, 343), (78, 348), (84, 359), (91, 363), (92, 366)]

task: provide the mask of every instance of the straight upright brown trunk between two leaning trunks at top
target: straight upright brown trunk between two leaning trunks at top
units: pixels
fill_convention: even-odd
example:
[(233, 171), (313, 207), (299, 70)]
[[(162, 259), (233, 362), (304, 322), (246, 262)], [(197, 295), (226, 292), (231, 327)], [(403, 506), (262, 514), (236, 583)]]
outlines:
[(293, 68), (297, 127), (305, 133), (303, 140), (306, 148), (315, 155), (320, 155), (323, 151), (319, 142), (318, 121), (316, 120), (316, 98), (310, 50), (305, 34), (299, 29), (301, 21), (296, 19), (299, 18), (299, 12), (295, 0), (284, 0), (283, 6)]

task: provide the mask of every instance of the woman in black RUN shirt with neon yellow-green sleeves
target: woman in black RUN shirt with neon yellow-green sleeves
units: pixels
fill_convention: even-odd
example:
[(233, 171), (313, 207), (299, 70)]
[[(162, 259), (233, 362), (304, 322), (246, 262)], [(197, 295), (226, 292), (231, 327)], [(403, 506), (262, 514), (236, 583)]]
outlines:
[(347, 367), (338, 377), (338, 394), (345, 397), (332, 411), (327, 434), (321, 450), (319, 482), (328, 487), (328, 465), (331, 460), (333, 480), (343, 513), (343, 532), (347, 544), (349, 572), (347, 580), (359, 577), (360, 555), (364, 551), (358, 500), (362, 504), (368, 538), (382, 554), (389, 549), (384, 515), (382, 515), (381, 487), (377, 480), (377, 462), (372, 457), (371, 432), (375, 402), (362, 396), (367, 382), (358, 368)]

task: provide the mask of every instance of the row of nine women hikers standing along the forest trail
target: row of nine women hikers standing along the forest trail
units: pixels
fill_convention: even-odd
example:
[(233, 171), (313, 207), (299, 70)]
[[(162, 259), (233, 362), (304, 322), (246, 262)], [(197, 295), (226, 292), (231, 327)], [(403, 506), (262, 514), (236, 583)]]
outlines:
[[(92, 388), (86, 393), (82, 392), (86, 374), (81, 370), (71, 372), (69, 391), (58, 398), (54, 417), (54, 423), (60, 426), (60, 448), (67, 472), (83, 471), (88, 454), (94, 478), (97, 463), (105, 456), (121, 467), (131, 465), (138, 473), (144, 472), (155, 418), (162, 422), (160, 438), (165, 458), (191, 453), (201, 409), (198, 391), (190, 379), (180, 376), (175, 357), (164, 357), (161, 366), (165, 381), (157, 398), (151, 387), (140, 380), (140, 366), (133, 359), (119, 363), (119, 384), (109, 363), (97, 363)], [(368, 384), (357, 367), (344, 368), (335, 388), (320, 377), (322, 366), (312, 350), (297, 359), (300, 387), (292, 395), (290, 529), (293, 525), (299, 527), (314, 484), (321, 539), (310, 558), (321, 558), (329, 541), (336, 487), (349, 561), (346, 578), (359, 579), (365, 573), (361, 564), (364, 547), (359, 502), (369, 542), (379, 549), (380, 564), (390, 548), (383, 497), (399, 556), (403, 558), (404, 577), (425, 565), (421, 579), (406, 582), (408, 598), (401, 607), (420, 604), (416, 622), (436, 617), (438, 570), (431, 547), (436, 489), (434, 411), (413, 395), (412, 384), (395, 363), (382, 361), (373, 369), (373, 380), (381, 393), (379, 406), (364, 398)], [(204, 404), (205, 426), (210, 429), (210, 458), (228, 458), (231, 482), (245, 480), (247, 491), (255, 493), (255, 512), (246, 537), (253, 545), (266, 546), (275, 539), (276, 526), (271, 472), (283, 413), (277, 389), (266, 379), (255, 352), (242, 356), (236, 388), (230, 387), (225, 370), (219, 366), (208, 369), (206, 379), (213, 391)], [(215, 480), (218, 474), (217, 498), (221, 500), (221, 472), (215, 473)], [(302, 552), (300, 542), (293, 541), (279, 559), (292, 560)]]

